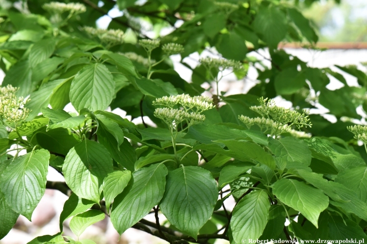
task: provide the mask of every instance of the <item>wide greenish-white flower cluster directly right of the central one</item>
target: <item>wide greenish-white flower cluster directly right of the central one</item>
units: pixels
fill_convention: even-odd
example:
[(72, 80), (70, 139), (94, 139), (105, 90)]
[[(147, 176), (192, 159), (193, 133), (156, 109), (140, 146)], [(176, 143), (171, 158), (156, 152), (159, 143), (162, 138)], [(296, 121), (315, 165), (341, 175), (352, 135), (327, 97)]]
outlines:
[(253, 125), (257, 125), (260, 127), (261, 131), (275, 137), (282, 133), (291, 133), (296, 137), (310, 136), (292, 128), (293, 126), (298, 129), (312, 126), (307, 111), (302, 111), (302, 113), (300, 113), (296, 110), (278, 107), (275, 106), (273, 100), (267, 98), (260, 98), (258, 101), (260, 102), (260, 106), (251, 106), (250, 109), (257, 112), (262, 117), (250, 118), (244, 115), (239, 116), (239, 119), (248, 129)]

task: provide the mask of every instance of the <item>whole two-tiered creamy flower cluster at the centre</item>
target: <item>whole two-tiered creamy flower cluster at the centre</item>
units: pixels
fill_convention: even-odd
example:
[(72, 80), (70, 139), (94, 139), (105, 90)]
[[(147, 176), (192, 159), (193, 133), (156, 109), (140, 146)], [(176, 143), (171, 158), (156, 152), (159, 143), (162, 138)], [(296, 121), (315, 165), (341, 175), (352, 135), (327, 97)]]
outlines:
[(153, 101), (153, 105), (164, 106), (156, 108), (154, 116), (173, 129), (177, 129), (178, 124), (183, 121), (186, 121), (188, 126), (204, 121), (205, 116), (200, 113), (214, 107), (213, 99), (209, 97), (191, 97), (187, 94), (158, 98)]

